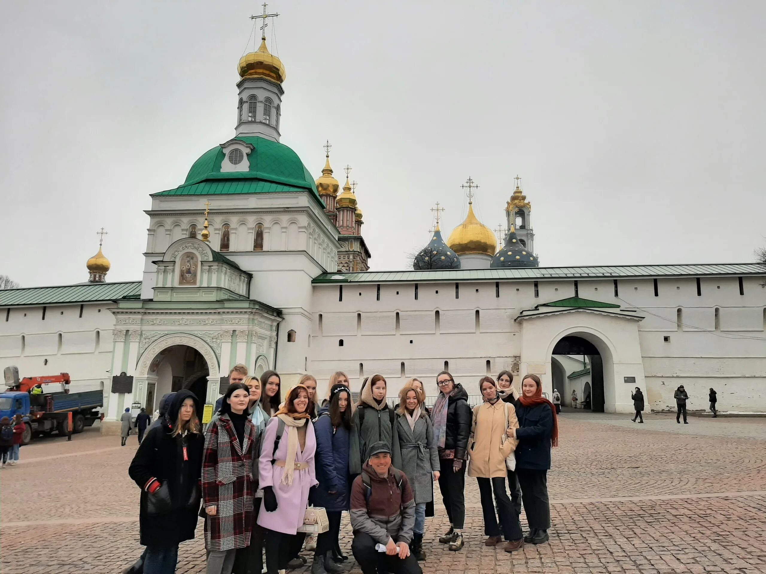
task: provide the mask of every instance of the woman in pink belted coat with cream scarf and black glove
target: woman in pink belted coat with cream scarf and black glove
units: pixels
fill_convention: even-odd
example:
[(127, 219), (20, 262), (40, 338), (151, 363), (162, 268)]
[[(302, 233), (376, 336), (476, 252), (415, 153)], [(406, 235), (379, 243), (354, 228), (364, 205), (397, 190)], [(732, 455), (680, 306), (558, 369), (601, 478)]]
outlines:
[(268, 574), (286, 569), (291, 543), (309, 504), (309, 489), (319, 484), (314, 473), (316, 439), (309, 414), (313, 411), (309, 390), (303, 385), (293, 386), (264, 431), (258, 461), (264, 499), (258, 524), (266, 529)]

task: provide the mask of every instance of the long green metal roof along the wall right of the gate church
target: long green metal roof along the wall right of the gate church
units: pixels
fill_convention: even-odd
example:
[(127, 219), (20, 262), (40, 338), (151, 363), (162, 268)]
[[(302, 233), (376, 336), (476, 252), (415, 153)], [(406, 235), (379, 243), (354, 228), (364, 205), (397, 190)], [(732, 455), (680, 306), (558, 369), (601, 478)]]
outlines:
[(322, 273), (313, 283), (391, 283), (445, 281), (499, 281), (503, 279), (620, 279), (678, 276), (766, 276), (764, 263), (710, 263), (702, 265), (619, 265), (582, 267), (529, 267), (522, 269), (450, 269), (444, 271), (368, 271)]

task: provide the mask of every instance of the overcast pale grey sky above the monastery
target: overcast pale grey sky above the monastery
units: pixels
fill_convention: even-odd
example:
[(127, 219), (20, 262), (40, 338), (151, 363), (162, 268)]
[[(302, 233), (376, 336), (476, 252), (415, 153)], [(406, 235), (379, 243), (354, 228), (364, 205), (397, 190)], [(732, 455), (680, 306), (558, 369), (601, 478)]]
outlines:
[[(141, 279), (149, 194), (234, 135), (256, 2), (2, 2), (0, 274)], [(282, 142), (352, 165), (372, 269), (513, 177), (542, 265), (747, 262), (766, 243), (766, 2), (275, 0)], [(272, 46), (274, 28), (268, 36)], [(252, 44), (250, 44), (252, 45)]]

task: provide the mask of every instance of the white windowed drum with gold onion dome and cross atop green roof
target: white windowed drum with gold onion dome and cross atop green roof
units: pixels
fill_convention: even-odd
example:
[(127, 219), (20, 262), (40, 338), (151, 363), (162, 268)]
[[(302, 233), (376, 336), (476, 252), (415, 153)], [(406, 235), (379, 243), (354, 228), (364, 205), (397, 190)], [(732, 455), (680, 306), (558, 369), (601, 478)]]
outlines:
[(264, 3), (263, 14), (250, 16), (253, 20), (263, 18), (260, 25), (260, 47), (241, 57), (237, 65), (241, 80), (237, 83), (239, 103), (235, 134), (259, 135), (279, 142), (284, 94), (282, 83), (286, 74), (282, 61), (266, 47), (267, 18), (279, 16), (276, 13), (267, 14), (266, 6)]

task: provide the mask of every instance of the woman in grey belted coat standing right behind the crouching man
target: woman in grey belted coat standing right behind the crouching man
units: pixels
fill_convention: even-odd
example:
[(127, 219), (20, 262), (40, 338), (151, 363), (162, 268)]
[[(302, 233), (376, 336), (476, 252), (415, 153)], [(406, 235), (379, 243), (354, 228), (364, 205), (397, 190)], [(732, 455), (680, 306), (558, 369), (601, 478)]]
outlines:
[(418, 560), (423, 551), (426, 505), (434, 501), (434, 481), (439, 480), (439, 452), (434, 426), (425, 412), (424, 393), (411, 383), (399, 393), (394, 442), (394, 468), (403, 471), (415, 497), (415, 527), (410, 551)]

